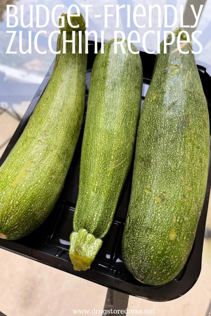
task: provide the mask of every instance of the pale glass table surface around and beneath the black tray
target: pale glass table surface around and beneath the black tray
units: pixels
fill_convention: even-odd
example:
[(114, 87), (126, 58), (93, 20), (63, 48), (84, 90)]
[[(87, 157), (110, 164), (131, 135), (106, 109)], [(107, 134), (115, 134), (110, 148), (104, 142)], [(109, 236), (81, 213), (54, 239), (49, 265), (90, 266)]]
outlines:
[[(117, 4), (122, 4), (120, 2), (117, 1)], [(29, 4), (45, 4), (51, 12), (53, 6), (58, 3), (65, 5), (65, 11), (61, 8), (58, 9), (58, 15), (60, 15), (66, 12), (69, 1), (1, 0), (0, 2), (0, 156), (55, 58), (55, 55), (49, 52), (47, 48), (47, 36), (55, 30), (51, 23), (45, 28), (47, 35), (44, 34), (39, 40), (40, 50), (47, 49), (46, 55), (40, 55), (34, 49), (32, 49), (32, 54), (25, 55), (20, 54), (20, 52), (17, 54), (5, 53), (11, 37), (11, 34), (6, 33), (8, 29), (6, 28), (5, 6), (6, 4), (16, 4), (20, 17), (20, 5), (24, 4), (24, 22), (28, 24)], [(71, 1), (71, 3), (81, 5), (86, 4), (86, 1)], [(90, 1), (89, 3), (93, 6), (97, 4), (97, 12), (95, 13), (102, 11), (103, 1)], [(135, 5), (138, 2), (128, 1), (128, 3)], [(148, 4), (146, 0), (142, 3)], [(158, 3), (162, 5), (164, 2), (160, 0)], [(170, 4), (168, 1), (166, 3)], [(179, 4), (185, 4), (185, 1), (175, 1), (175, 3), (178, 7)], [(103, 26), (99, 21), (95, 22), (94, 11), (91, 10), (90, 12), (90, 27), (92, 30), (95, 29), (99, 32)], [(208, 35), (211, 29), (210, 14), (211, 0), (206, 2), (203, 19), (199, 23), (200, 29), (207, 34), (207, 39), (210, 39)], [(111, 36), (112, 27), (111, 25), (106, 30), (107, 39)], [(12, 30), (23, 31), (23, 46), (24, 49), (27, 49), (29, 29), (18, 26)], [(32, 36), (38, 31), (36, 27), (30, 30), (32, 30)], [(203, 53), (197, 56), (196, 59), (198, 64), (206, 64), (209, 71), (211, 41), (205, 40), (203, 37), (203, 44)], [(151, 43), (149, 49), (154, 49), (153, 45)], [(18, 50), (18, 47), (19, 40), (16, 37), (12, 50)], [(56, 47), (56, 37), (53, 38), (53, 47)], [(128, 300), (127, 296), (112, 293), (111, 302), (111, 293), (107, 292), (107, 289), (103, 286), (0, 249), (0, 311), (8, 316), (28, 316), (29, 314), (33, 316), (66, 316), (72, 315), (73, 309), (102, 310), (104, 306), (112, 307), (112, 304), (114, 304), (115, 306), (126, 306), (128, 309), (134, 310), (154, 309), (156, 315), (169, 315), (170, 313), (171, 316), (209, 315), (211, 310), (211, 239), (208, 238), (208, 232), (211, 229), (210, 208), (209, 206), (206, 224), (207, 238), (204, 239), (201, 275), (195, 286), (186, 295), (175, 301), (156, 303), (132, 296)], [(96, 315), (102, 315), (102, 312), (96, 313)]]

